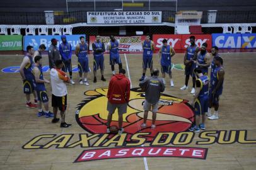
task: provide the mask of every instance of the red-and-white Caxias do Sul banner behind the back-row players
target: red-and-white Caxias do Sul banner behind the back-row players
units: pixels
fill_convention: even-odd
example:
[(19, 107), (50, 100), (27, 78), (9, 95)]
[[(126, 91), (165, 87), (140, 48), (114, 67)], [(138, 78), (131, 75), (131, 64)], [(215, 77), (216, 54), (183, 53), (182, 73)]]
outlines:
[[(143, 42), (146, 36), (132, 36), (132, 37), (115, 37), (120, 41), (119, 50), (122, 51), (142, 51), (143, 47), (141, 42)], [(90, 36), (90, 46), (89, 49), (93, 50), (92, 44), (96, 41), (95, 36)], [(110, 42), (110, 38), (103, 36), (100, 37), (100, 41), (104, 43), (107, 50), (107, 43)]]

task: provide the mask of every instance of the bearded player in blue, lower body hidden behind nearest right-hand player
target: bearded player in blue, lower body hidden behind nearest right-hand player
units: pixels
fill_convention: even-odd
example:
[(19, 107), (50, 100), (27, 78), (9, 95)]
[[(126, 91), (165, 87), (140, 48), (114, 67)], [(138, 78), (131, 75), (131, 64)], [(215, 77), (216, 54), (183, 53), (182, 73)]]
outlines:
[(207, 43), (203, 43), (200, 52), (197, 54), (197, 67), (202, 74), (208, 75), (208, 67), (211, 65), (211, 55), (207, 53)]

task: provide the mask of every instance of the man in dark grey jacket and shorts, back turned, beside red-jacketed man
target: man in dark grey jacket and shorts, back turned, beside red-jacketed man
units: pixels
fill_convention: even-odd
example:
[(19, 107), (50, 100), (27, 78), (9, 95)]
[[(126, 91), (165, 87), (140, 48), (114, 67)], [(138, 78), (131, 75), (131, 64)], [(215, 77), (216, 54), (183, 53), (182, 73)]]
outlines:
[(148, 111), (152, 107), (152, 125), (151, 128), (156, 128), (156, 112), (158, 111), (158, 101), (160, 99), (161, 92), (165, 91), (165, 84), (163, 84), (163, 79), (158, 78), (159, 70), (153, 70), (153, 76), (149, 79), (145, 79), (143, 82), (139, 83), (141, 89), (145, 89), (145, 100), (144, 100), (144, 121), (141, 127), (146, 128), (146, 122), (148, 118)]

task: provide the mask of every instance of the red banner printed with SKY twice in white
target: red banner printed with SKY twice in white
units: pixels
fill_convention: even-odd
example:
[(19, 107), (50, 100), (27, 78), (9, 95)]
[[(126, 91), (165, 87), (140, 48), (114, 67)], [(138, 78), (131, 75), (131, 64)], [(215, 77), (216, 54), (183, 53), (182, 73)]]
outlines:
[[(170, 34), (162, 34), (162, 35), (153, 35), (153, 41), (156, 44), (156, 50), (161, 48), (163, 45), (163, 39), (167, 40), (167, 43), (170, 44), (174, 49), (177, 50), (185, 50), (189, 47), (189, 37), (192, 35), (170, 35)], [(211, 49), (212, 46), (212, 38), (211, 35), (194, 35), (195, 36), (195, 44), (199, 47), (202, 46), (202, 43), (207, 43), (207, 50)]]

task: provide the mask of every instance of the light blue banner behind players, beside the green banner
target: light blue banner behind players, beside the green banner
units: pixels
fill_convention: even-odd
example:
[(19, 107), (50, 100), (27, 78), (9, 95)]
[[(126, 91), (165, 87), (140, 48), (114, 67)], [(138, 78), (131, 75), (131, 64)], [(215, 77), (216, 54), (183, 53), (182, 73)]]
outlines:
[[(84, 38), (86, 35), (66, 35), (67, 42), (69, 42), (72, 46), (72, 50), (75, 50), (76, 45), (80, 42), (79, 37), (83, 36)], [(61, 35), (26, 35), (24, 37), (24, 48), (23, 50), (26, 50), (26, 46), (32, 45), (34, 47), (34, 50), (38, 50), (38, 47), (40, 44), (44, 43), (46, 46), (46, 50), (50, 47), (50, 40), (52, 38), (56, 38), (59, 40), (57, 43), (57, 47), (59, 47), (59, 43), (61, 43)]]

